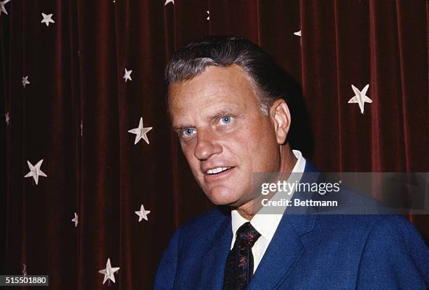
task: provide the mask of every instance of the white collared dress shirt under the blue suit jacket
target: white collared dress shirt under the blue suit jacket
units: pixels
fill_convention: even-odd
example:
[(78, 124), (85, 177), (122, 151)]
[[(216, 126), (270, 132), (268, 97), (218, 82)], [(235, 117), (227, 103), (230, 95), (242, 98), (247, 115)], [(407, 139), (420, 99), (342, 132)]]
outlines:
[[(298, 159), (295, 163), (294, 168), (292, 169), (293, 173), (304, 172), (306, 167), (306, 160), (302, 157), (302, 154), (298, 150), (292, 150), (294, 156)], [(301, 180), (301, 178), (300, 178)], [(292, 193), (293, 194), (293, 193)], [(290, 197), (292, 197), (292, 194)], [(275, 195), (274, 195), (275, 196)], [(252, 247), (253, 254), (253, 272), (258, 268), (259, 263), (261, 262), (262, 257), (265, 254), (268, 244), (270, 244), (271, 239), (277, 230), (278, 224), (282, 219), (282, 215), (285, 212), (286, 207), (282, 207), (281, 214), (255, 214), (250, 220), (250, 224), (261, 234), (259, 239), (254, 243)], [(236, 232), (240, 226), (243, 226), (244, 223), (247, 223), (247, 219), (243, 218), (236, 209), (231, 211), (231, 222), (233, 230), (233, 239), (231, 242), (231, 249), (233, 248), (234, 242), (236, 242)]]

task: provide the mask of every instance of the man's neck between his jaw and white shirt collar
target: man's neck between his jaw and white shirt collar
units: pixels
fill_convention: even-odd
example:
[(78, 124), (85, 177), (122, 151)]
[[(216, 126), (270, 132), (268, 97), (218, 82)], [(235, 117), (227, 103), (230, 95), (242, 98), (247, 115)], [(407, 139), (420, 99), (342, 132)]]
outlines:
[[(280, 165), (279, 165), (279, 176), (282, 179), (287, 179), (290, 172), (294, 169), (295, 164), (297, 164), (297, 158), (290, 149), (289, 144), (280, 146)], [(280, 179), (279, 179), (280, 180)], [(261, 201), (264, 198), (271, 199), (275, 193), (269, 193), (268, 195), (257, 194), (255, 198), (245, 202), (243, 205), (237, 207), (237, 212), (240, 216), (250, 221), (252, 217), (261, 209)]]

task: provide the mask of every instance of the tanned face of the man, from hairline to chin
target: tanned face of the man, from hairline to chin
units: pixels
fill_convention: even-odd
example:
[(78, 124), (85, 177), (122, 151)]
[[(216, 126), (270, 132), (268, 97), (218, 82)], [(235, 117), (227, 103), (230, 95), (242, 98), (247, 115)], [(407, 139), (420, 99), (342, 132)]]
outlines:
[(273, 121), (259, 109), (245, 72), (236, 64), (207, 67), (168, 90), (172, 126), (193, 176), (215, 205), (252, 200), (254, 172), (277, 172)]

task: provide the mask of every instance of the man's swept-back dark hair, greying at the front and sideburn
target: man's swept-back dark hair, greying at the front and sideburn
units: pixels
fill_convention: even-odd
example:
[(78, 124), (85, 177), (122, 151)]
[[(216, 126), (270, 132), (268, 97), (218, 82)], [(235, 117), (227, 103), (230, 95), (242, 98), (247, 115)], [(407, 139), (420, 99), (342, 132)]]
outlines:
[(238, 64), (258, 97), (261, 112), (268, 116), (276, 99), (287, 102), (284, 71), (265, 50), (240, 36), (206, 36), (177, 50), (165, 69), (167, 85), (187, 81), (207, 67)]

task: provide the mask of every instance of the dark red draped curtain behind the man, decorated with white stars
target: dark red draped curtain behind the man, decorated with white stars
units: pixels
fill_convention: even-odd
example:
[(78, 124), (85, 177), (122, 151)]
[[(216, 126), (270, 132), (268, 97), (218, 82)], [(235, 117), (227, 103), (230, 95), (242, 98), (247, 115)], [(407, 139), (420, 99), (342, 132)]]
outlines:
[[(211, 207), (170, 131), (163, 84), (172, 52), (206, 34), (246, 36), (301, 85), (313, 134), (303, 151), (321, 170), (429, 170), (428, 1), (165, 2), (4, 4), (2, 272), (25, 264), (52, 289), (104, 289), (110, 258), (111, 289), (151, 288), (175, 228)], [(367, 84), (362, 114), (348, 100)], [(140, 117), (149, 144), (128, 132)], [(36, 185), (27, 160), (41, 159)], [(428, 216), (411, 220), (429, 236)]]

